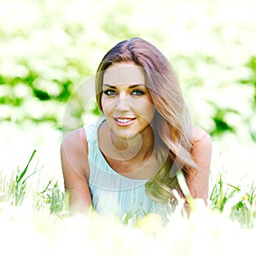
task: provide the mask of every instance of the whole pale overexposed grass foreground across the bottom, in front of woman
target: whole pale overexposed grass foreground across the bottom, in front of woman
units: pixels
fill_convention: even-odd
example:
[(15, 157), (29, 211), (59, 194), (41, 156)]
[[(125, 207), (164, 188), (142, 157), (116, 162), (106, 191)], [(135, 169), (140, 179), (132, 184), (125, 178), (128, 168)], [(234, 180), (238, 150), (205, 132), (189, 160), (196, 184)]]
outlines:
[[(156, 214), (134, 218), (127, 212), (123, 219), (70, 215), (69, 195), (62, 184), (49, 180), (35, 183), (38, 170), (30, 170), (36, 152), (24, 169), (10, 178), (0, 175), (0, 252), (9, 255), (26, 247), (26, 255), (55, 255), (83, 252), (91, 255), (238, 255), (244, 247), (253, 250), (256, 218), (256, 188), (232, 185), (224, 175), (216, 177), (209, 196), (209, 206), (193, 201), (187, 218), (178, 209), (163, 224)], [(16, 246), (13, 247), (12, 245)], [(41, 253), (41, 254), (40, 254)]]

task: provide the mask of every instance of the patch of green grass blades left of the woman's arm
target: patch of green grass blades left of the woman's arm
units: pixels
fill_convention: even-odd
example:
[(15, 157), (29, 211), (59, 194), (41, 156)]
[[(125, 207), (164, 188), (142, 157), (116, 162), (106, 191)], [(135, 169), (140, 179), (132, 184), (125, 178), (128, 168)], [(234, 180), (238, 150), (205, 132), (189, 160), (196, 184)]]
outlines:
[[(49, 214), (66, 216), (68, 214), (68, 195), (61, 189), (58, 182), (51, 179), (43, 189), (39, 190), (37, 190), (37, 185), (30, 184), (30, 178), (39, 172), (39, 170), (29, 172), (29, 165), (35, 154), (36, 150), (32, 152), (26, 167), (23, 170), (18, 168), (12, 177), (3, 177), (0, 172), (0, 203), (18, 207), (26, 204), (24, 201), (28, 200), (32, 201), (35, 211), (48, 209)], [(28, 185), (30, 185), (29, 189), (27, 189)]]

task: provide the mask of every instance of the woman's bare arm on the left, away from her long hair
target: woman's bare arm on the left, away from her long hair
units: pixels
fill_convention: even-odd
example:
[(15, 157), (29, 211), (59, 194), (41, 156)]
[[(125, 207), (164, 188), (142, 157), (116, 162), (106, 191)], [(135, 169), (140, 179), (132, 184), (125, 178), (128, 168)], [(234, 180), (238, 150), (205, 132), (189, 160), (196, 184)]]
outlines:
[(91, 206), (88, 184), (88, 146), (83, 128), (72, 131), (61, 143), (61, 166), (65, 189), (70, 191), (72, 212), (85, 212)]

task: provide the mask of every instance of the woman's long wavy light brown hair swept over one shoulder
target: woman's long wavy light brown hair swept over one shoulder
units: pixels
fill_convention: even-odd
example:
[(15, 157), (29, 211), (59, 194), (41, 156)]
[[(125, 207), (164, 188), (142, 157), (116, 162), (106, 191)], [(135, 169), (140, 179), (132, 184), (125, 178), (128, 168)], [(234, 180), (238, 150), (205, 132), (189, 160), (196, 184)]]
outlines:
[[(96, 72), (96, 102), (101, 111), (104, 71), (110, 65), (123, 61), (132, 61), (143, 67), (146, 85), (156, 109), (152, 126), (157, 141), (156, 152), (163, 165), (146, 183), (146, 192), (155, 201), (176, 200), (172, 191), (180, 191), (177, 172), (182, 171), (189, 182), (192, 172), (197, 170), (190, 154), (193, 139), (189, 111), (177, 75), (154, 45), (142, 38), (122, 41), (108, 51)], [(166, 149), (167, 157), (163, 157)]]

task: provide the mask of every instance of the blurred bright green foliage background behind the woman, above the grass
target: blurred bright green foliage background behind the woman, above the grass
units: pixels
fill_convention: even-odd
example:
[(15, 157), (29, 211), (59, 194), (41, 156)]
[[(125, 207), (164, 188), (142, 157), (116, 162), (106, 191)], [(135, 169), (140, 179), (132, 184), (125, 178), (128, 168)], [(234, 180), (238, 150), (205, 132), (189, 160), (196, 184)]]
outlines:
[[(61, 178), (70, 97), (108, 49), (141, 37), (171, 61), (194, 124), (212, 135), (212, 172), (252, 179), (255, 14), (253, 0), (0, 0), (0, 170), (25, 165), (37, 149), (37, 168)], [(71, 130), (84, 122), (76, 104)]]

